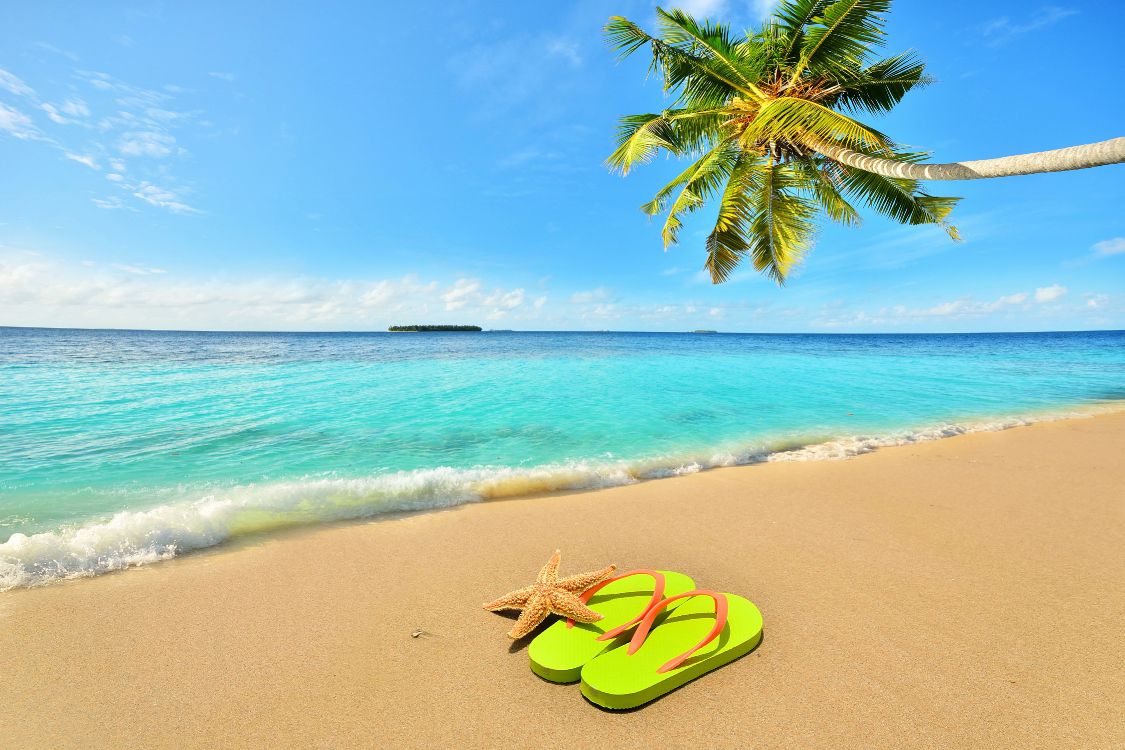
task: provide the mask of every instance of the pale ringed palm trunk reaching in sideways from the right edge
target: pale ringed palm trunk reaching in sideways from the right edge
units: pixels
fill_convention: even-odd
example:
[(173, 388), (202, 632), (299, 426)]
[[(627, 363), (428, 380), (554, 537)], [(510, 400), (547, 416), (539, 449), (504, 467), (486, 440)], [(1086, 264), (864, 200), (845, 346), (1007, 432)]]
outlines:
[(809, 145), (825, 156), (857, 170), (909, 180), (982, 180), (1016, 174), (1084, 170), (1089, 166), (1125, 162), (1125, 137), (1089, 143), (1084, 146), (1040, 151), (1034, 154), (984, 159), (976, 162), (951, 162), (948, 164), (897, 162), (891, 159), (868, 156), (826, 142)]

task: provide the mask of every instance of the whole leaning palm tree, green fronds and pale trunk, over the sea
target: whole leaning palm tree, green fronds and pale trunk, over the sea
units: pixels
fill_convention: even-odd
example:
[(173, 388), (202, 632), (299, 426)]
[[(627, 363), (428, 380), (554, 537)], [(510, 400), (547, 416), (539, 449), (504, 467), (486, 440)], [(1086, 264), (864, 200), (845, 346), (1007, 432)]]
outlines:
[(641, 207), (667, 211), (664, 246), (683, 217), (719, 204), (705, 268), (720, 283), (749, 256), (778, 283), (812, 244), (821, 214), (860, 223), (852, 201), (902, 224), (937, 224), (957, 198), (920, 180), (969, 180), (1082, 169), (1125, 161), (1125, 138), (979, 162), (925, 164), (852, 115), (882, 115), (930, 79), (914, 52), (876, 57), (891, 0), (784, 0), (763, 27), (736, 38), (728, 26), (657, 9), (659, 35), (613, 17), (605, 27), (621, 57), (644, 47), (670, 108), (621, 120), (606, 163), (628, 174), (662, 150), (693, 163)]

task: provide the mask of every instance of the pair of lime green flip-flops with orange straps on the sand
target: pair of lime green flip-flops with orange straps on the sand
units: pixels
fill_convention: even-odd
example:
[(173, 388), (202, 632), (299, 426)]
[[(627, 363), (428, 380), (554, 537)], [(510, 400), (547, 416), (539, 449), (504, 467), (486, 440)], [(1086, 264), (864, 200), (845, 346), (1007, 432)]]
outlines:
[(644, 705), (762, 640), (754, 603), (670, 570), (630, 570), (579, 598), (602, 620), (552, 624), (528, 647), (531, 670), (552, 683), (580, 680), (582, 694), (605, 708)]

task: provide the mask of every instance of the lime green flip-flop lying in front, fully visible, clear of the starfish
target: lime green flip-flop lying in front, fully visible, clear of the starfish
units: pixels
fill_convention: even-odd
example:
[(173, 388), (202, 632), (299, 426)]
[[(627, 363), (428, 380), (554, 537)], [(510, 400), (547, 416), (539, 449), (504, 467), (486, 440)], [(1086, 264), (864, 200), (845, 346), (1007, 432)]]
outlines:
[(705, 589), (670, 596), (648, 611), (628, 647), (582, 668), (582, 694), (604, 708), (633, 708), (749, 653), (760, 640), (762, 613), (749, 599)]

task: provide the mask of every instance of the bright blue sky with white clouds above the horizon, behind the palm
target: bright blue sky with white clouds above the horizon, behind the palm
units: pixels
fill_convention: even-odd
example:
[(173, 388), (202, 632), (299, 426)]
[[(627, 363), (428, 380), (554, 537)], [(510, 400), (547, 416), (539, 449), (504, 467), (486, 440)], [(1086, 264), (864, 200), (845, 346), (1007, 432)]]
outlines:
[[(691, 0), (756, 24), (768, 2)], [(938, 82), (876, 125), (938, 161), (1123, 135), (1110, 2), (900, 0)], [(965, 242), (868, 216), (784, 288), (662, 251), (616, 118), (664, 94), (613, 2), (4, 3), (0, 325), (380, 329), (1125, 327), (1125, 168), (935, 183)]]

